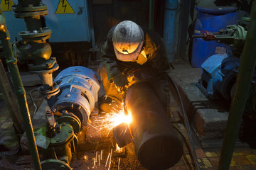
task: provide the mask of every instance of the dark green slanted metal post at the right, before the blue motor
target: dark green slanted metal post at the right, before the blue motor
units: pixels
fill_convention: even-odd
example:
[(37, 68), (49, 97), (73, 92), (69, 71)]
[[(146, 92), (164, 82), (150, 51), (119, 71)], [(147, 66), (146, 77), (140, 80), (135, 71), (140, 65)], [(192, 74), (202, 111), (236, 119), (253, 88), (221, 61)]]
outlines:
[(218, 169), (229, 169), (232, 159), (235, 140), (238, 137), (238, 130), (242, 119), (242, 113), (245, 108), (248, 91), (252, 81), (252, 74), (255, 70), (256, 63), (256, 0), (252, 3), (251, 19), (245, 46), (240, 58), (240, 68), (238, 79), (235, 86), (235, 95), (230, 106), (230, 114), (228, 116), (228, 125), (225, 131), (223, 147), (220, 153), (220, 162)]

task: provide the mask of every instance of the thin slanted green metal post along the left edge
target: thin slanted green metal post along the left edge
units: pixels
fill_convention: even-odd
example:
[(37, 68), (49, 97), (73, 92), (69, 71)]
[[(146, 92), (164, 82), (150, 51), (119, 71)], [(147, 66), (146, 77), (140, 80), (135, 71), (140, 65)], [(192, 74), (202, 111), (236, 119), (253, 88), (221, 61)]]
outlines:
[(6, 28), (6, 22), (4, 18), (4, 13), (0, 6), (0, 39), (4, 47), (6, 64), (9, 67), (11, 73), (11, 79), (14, 84), (14, 89), (16, 96), (18, 98), (18, 104), (20, 106), (21, 116), (24, 123), (24, 128), (26, 131), (26, 136), (28, 137), (28, 146), (31, 152), (31, 157), (33, 159), (34, 169), (41, 170), (40, 159), (38, 155), (38, 149), (36, 147), (36, 140), (33, 134), (33, 128), (31, 123), (31, 117), (28, 111), (28, 104), (26, 101), (26, 92), (23, 88), (21, 81), (21, 76), (18, 72), (17, 60), (14, 57), (14, 53), (11, 48), (10, 35)]

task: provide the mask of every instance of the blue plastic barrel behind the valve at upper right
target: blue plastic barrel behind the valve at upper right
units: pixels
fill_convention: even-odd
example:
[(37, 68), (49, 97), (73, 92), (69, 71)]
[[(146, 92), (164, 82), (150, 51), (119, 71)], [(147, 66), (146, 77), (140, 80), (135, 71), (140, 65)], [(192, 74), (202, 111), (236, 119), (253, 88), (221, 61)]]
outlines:
[[(218, 32), (226, 26), (236, 24), (238, 21), (238, 13), (235, 7), (223, 6), (213, 8), (196, 7), (198, 14), (196, 16), (194, 35), (199, 35), (201, 30)], [(223, 54), (228, 52), (228, 45), (215, 41), (205, 41), (202, 38), (193, 39), (192, 67), (201, 68), (201, 64), (211, 55), (215, 53)]]

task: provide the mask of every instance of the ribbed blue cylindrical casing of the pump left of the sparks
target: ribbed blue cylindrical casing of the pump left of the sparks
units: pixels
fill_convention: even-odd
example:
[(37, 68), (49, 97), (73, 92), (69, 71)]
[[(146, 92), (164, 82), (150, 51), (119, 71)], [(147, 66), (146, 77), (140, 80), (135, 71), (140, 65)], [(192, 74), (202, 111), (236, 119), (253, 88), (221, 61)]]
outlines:
[(100, 89), (95, 72), (86, 67), (69, 67), (58, 74), (55, 82), (59, 85), (60, 93), (50, 98), (50, 108), (71, 112), (82, 125), (87, 125)]

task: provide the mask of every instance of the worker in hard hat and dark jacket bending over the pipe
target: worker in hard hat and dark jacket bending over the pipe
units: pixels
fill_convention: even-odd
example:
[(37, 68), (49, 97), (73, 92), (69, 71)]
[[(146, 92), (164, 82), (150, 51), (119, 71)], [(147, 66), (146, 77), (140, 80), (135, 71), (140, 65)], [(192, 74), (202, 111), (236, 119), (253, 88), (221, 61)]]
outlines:
[(152, 93), (169, 114), (170, 92), (166, 73), (170, 66), (164, 42), (157, 33), (142, 29), (132, 21), (122, 21), (110, 29), (102, 52), (103, 62), (98, 74), (107, 96), (100, 100), (103, 111), (121, 107), (129, 86), (143, 82), (151, 86)]

